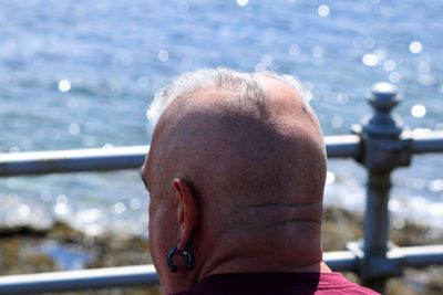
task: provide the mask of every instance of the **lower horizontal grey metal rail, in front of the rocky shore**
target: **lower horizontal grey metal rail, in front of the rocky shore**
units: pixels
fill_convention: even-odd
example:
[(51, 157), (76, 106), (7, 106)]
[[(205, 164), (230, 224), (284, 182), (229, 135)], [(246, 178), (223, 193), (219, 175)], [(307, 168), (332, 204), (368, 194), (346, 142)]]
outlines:
[[(396, 247), (403, 266), (427, 266), (443, 263), (443, 245)], [(359, 259), (350, 251), (327, 252), (324, 262), (333, 271), (356, 271)], [(392, 259), (392, 260), (393, 260)], [(390, 261), (388, 253), (385, 261)], [(37, 294), (111, 287), (154, 287), (158, 276), (152, 264), (70, 272), (0, 276), (0, 294)]]

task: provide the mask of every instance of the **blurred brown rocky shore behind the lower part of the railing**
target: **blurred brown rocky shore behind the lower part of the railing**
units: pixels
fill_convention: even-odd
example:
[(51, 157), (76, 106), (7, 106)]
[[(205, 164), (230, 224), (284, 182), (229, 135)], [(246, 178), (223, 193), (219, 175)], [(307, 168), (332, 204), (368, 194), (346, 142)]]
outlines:
[[(361, 236), (362, 217), (339, 208), (324, 211), (324, 251), (346, 249)], [(408, 220), (394, 219), (391, 239), (400, 246), (443, 244), (443, 233)], [(0, 228), (0, 274), (25, 274), (76, 268), (111, 267), (150, 263), (146, 239), (107, 233), (89, 236), (63, 222), (35, 230), (31, 226)], [(346, 274), (358, 281), (352, 273)], [(391, 278), (385, 294), (443, 294), (443, 266), (406, 268)], [(71, 293), (64, 293), (71, 294)], [(158, 289), (114, 288), (72, 294), (161, 294)]]

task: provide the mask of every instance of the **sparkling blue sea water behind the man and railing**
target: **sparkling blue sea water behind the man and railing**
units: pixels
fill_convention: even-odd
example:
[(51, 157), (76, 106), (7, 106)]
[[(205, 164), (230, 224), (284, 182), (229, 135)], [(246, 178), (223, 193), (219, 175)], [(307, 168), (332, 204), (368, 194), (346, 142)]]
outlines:
[[(173, 76), (209, 66), (298, 76), (326, 135), (371, 112), (389, 81), (411, 129), (443, 129), (443, 2), (0, 0), (0, 152), (150, 144), (145, 109)], [(443, 228), (443, 155), (394, 172), (393, 225)], [(329, 162), (326, 202), (362, 211), (365, 171)], [(137, 171), (0, 179), (0, 225), (62, 219), (147, 234)]]

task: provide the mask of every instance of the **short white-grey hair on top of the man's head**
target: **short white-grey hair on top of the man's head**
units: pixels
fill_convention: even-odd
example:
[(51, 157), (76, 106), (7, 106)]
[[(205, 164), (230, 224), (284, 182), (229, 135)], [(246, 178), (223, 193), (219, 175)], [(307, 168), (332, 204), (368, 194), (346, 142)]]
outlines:
[(146, 110), (148, 125), (153, 129), (166, 107), (177, 97), (214, 86), (248, 89), (251, 85), (256, 86), (257, 76), (268, 76), (287, 84), (296, 91), (300, 98), (309, 103), (305, 97), (305, 88), (301, 83), (290, 75), (279, 75), (274, 72), (243, 73), (224, 67), (203, 69), (175, 77), (168, 85), (155, 93)]

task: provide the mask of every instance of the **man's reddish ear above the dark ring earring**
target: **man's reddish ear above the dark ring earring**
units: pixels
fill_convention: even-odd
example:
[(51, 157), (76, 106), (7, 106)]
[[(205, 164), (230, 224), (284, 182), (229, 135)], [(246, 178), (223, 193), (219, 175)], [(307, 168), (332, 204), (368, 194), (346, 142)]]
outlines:
[(178, 249), (184, 250), (189, 242), (190, 235), (198, 226), (199, 211), (196, 196), (189, 189), (188, 183), (182, 178), (175, 178), (174, 196), (178, 201), (177, 221), (178, 221)]

